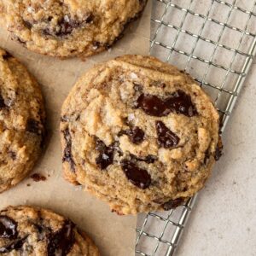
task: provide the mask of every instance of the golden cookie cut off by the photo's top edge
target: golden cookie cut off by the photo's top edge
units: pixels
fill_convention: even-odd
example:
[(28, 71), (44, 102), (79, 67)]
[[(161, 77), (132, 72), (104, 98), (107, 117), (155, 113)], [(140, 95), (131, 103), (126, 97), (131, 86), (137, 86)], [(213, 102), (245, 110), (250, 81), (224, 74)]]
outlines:
[(45, 55), (95, 55), (108, 49), (147, 0), (1, 1), (0, 15), (27, 49)]

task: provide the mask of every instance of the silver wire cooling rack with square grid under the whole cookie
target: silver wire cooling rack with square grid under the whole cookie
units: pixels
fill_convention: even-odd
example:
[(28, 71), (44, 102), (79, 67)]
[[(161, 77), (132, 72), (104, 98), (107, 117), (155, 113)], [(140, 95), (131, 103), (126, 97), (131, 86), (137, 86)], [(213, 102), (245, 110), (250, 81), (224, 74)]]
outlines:
[[(256, 0), (153, 2), (150, 54), (201, 84), (224, 131), (256, 54)], [(136, 255), (173, 255), (195, 200), (196, 195), (169, 212), (141, 214)]]

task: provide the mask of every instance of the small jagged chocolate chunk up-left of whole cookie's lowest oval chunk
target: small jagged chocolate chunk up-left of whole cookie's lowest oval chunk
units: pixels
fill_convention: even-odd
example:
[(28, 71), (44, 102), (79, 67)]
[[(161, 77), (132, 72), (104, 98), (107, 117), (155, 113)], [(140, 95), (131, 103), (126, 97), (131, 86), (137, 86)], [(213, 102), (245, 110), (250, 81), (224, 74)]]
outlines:
[(96, 158), (96, 165), (102, 170), (113, 164), (114, 145), (107, 147), (99, 138), (96, 138), (96, 150), (100, 152)]

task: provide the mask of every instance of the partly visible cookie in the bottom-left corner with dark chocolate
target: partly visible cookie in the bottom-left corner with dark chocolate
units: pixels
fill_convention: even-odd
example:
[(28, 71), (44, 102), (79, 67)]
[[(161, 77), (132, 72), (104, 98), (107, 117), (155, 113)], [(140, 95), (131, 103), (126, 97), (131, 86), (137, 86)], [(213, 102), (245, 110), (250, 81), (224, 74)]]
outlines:
[(0, 254), (98, 256), (93, 241), (75, 224), (38, 207), (7, 207), (0, 212)]

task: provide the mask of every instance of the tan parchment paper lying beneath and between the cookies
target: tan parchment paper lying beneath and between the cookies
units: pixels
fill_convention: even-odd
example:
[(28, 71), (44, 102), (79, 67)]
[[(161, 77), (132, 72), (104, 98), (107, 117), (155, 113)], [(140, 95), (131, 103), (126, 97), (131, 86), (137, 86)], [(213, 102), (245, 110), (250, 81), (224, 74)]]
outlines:
[(49, 129), (47, 147), (32, 172), (43, 174), (47, 180), (36, 183), (27, 177), (15, 188), (0, 195), (0, 209), (26, 204), (59, 212), (87, 232), (96, 241), (103, 256), (134, 255), (136, 217), (118, 216), (110, 212), (107, 204), (63, 179), (59, 137), (61, 104), (79, 76), (95, 63), (117, 55), (148, 54), (150, 10), (151, 4), (148, 3), (142, 19), (126, 30), (125, 37), (113, 49), (85, 61), (78, 58), (59, 60), (32, 53), (12, 41), (9, 33), (0, 29), (0, 47), (9, 50), (26, 65), (41, 85)]

